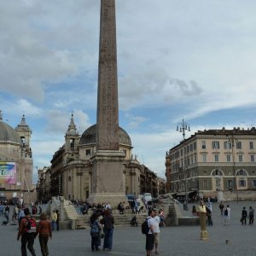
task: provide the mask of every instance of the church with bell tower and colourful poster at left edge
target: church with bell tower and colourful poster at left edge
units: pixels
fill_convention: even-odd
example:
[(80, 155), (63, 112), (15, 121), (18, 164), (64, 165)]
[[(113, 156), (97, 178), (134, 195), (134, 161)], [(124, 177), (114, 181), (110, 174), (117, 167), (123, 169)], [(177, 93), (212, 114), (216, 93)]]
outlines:
[(3, 122), (0, 111), (0, 195), (8, 201), (20, 197), (30, 201), (32, 190), (32, 130), (23, 115), (16, 128)]

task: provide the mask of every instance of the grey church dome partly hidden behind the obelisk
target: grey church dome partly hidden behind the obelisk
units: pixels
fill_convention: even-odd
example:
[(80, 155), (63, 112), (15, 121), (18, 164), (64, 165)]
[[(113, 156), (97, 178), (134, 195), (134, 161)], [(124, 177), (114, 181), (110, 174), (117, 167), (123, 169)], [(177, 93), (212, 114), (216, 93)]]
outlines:
[[(80, 138), (80, 145), (96, 143), (96, 125), (91, 125), (84, 131)], [(131, 138), (128, 133), (119, 126), (119, 143), (131, 146)]]

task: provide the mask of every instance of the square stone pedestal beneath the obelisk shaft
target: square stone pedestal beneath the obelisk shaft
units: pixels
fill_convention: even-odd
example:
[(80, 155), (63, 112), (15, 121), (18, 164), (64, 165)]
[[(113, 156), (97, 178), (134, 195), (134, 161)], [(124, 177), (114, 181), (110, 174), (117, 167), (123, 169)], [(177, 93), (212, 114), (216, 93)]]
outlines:
[(109, 203), (117, 207), (125, 197), (125, 153), (115, 150), (98, 150), (91, 157), (90, 204)]

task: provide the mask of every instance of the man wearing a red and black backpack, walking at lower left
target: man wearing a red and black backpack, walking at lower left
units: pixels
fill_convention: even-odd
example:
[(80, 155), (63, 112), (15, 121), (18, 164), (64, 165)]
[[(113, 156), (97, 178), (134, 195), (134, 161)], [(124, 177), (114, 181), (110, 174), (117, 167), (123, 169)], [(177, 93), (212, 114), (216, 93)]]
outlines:
[(20, 240), (21, 236), (21, 255), (26, 256), (26, 245), (32, 256), (36, 256), (33, 248), (34, 239), (37, 231), (36, 220), (30, 216), (28, 208), (24, 209), (25, 217), (21, 219), (17, 241)]

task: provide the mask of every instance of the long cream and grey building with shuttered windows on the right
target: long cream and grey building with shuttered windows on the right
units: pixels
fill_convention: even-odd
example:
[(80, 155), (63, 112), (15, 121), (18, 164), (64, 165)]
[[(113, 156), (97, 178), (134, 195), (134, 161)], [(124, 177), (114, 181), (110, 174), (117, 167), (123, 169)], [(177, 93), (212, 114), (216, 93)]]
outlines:
[[(166, 189), (242, 199), (256, 190), (256, 129), (205, 130), (166, 153)], [(185, 188), (186, 185), (186, 188)]]

